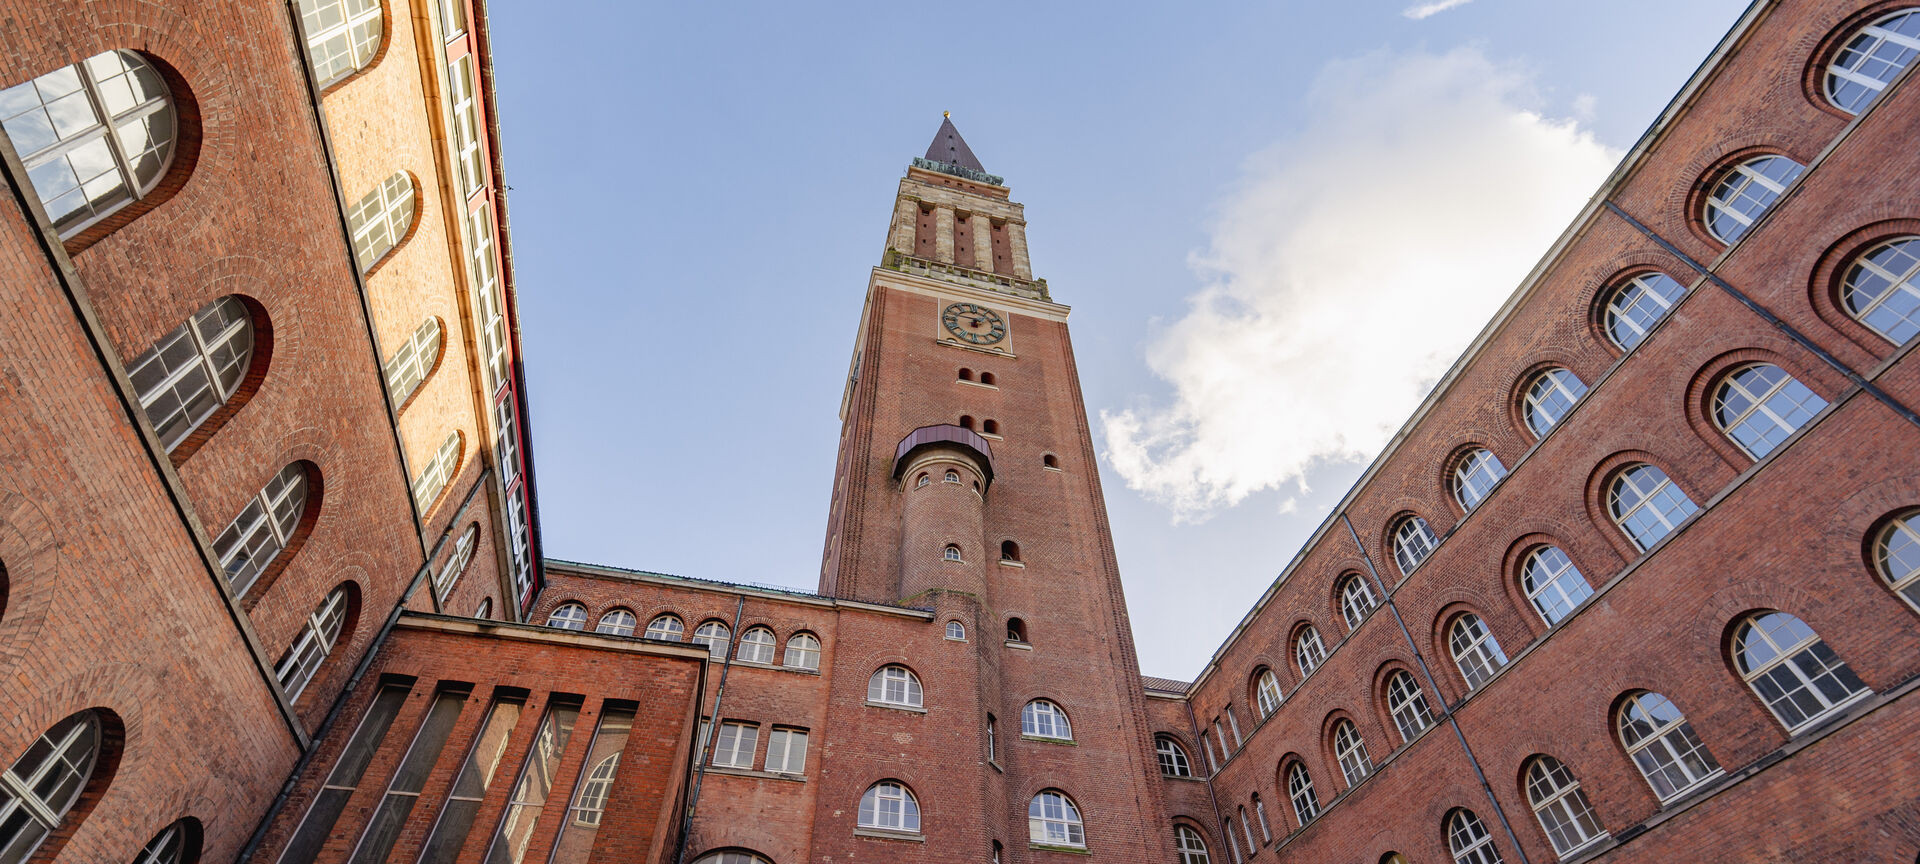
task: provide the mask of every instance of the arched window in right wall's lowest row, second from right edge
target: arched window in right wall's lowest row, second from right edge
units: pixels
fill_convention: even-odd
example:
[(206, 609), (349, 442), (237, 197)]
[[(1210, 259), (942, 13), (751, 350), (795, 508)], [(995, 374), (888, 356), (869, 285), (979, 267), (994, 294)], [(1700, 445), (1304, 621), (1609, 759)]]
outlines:
[(1747, 616), (1734, 632), (1734, 666), (1788, 732), (1872, 693), (1820, 634), (1788, 612)]

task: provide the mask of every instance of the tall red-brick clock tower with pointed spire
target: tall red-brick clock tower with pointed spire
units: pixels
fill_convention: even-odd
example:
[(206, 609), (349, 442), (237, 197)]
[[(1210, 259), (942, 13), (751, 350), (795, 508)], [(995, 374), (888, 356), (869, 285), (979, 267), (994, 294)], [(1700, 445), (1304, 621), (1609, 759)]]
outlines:
[[(1052, 860), (1052, 843), (1029, 837), (1029, 806), (1058, 791), (1096, 860), (1165, 860), (1068, 307), (1035, 278), (1025, 207), (1008, 192), (950, 119), (900, 179), (841, 399), (820, 593), (931, 609), (931, 626), (966, 643), (900, 657), (975, 695), (931, 728), (977, 801), (983, 852)], [(864, 682), (876, 659), (845, 662)], [(1069, 741), (1046, 718), (1023, 726), (1048, 712), (1037, 703), (1066, 716)]]

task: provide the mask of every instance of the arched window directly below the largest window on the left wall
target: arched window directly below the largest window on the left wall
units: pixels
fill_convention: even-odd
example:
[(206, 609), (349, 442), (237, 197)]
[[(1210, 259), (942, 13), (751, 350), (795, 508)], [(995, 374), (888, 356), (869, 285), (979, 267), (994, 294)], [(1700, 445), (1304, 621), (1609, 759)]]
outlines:
[(240, 392), (253, 361), (253, 315), (228, 294), (127, 365), (140, 409), (169, 451)]

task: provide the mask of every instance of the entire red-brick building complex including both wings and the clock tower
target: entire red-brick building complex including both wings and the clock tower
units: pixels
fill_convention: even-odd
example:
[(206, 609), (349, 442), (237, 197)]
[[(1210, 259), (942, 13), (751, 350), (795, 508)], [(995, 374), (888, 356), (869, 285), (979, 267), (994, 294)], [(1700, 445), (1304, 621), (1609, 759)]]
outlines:
[(952, 123), (735, 586), (541, 561), (484, 4), (8, 15), (0, 864), (1920, 854), (1910, 0), (1755, 2), (1194, 682)]

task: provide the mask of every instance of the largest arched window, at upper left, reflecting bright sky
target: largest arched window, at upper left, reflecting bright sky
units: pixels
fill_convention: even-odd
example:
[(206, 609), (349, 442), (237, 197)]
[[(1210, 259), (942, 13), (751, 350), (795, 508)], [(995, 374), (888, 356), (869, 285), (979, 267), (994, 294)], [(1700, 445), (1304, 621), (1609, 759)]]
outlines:
[(177, 125), (165, 79), (134, 52), (94, 54), (0, 90), (0, 127), (61, 238), (154, 192)]

